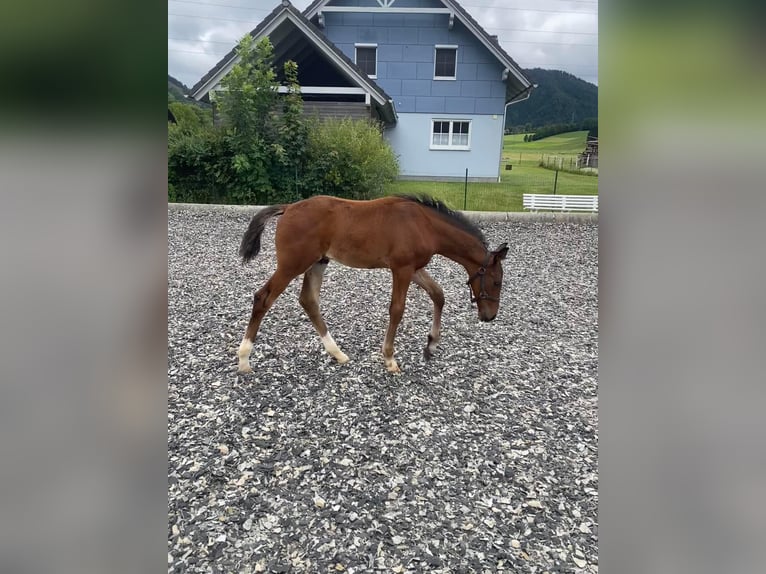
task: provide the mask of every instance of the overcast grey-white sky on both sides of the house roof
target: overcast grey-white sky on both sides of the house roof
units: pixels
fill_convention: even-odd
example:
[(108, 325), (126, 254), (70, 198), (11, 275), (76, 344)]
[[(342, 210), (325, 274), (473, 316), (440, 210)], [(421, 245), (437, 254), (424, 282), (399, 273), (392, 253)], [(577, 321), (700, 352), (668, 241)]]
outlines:
[[(312, 0), (294, 0), (303, 11)], [(280, 0), (168, 0), (168, 73), (188, 87)], [(598, 0), (463, 0), (523, 68), (564, 70), (598, 84)]]

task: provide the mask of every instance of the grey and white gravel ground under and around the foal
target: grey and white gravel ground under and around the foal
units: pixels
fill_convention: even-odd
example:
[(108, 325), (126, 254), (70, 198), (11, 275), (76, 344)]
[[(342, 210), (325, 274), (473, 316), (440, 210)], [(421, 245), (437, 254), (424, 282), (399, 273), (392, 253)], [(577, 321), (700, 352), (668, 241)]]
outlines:
[(275, 268), (274, 227), (247, 266), (254, 211), (168, 212), (169, 572), (597, 572), (597, 223), (480, 222), (507, 241), (500, 313), (479, 323), (466, 273), (434, 257), (446, 304), (412, 286), (380, 346), (386, 270), (331, 263), (321, 307), (300, 279), (235, 353)]

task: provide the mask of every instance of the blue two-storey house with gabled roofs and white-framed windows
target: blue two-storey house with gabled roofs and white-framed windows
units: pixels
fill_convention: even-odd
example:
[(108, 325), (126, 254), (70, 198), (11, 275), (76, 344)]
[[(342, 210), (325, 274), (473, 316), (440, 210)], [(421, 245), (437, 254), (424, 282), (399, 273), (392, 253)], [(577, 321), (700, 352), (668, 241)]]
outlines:
[[(304, 109), (381, 122), (404, 179), (500, 176), (505, 109), (533, 84), (453, 0), (282, 0), (252, 32), (275, 64), (293, 60)], [(237, 62), (234, 50), (197, 82), (201, 100)]]

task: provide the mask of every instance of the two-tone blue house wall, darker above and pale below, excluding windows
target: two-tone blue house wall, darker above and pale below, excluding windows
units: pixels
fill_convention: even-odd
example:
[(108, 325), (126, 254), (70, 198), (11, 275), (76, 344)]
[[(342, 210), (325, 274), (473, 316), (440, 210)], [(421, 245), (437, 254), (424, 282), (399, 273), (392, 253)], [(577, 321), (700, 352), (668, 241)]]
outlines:
[[(377, 2), (336, 0), (333, 6)], [(398, 0), (397, 7), (443, 7), (437, 0)], [(393, 99), (399, 120), (386, 137), (404, 177), (499, 176), (505, 82), (503, 65), (457, 18), (447, 14), (324, 14), (324, 33), (355, 60), (355, 44), (377, 44), (375, 82)], [(456, 79), (434, 79), (435, 46), (456, 45)], [(470, 150), (429, 149), (431, 122), (471, 122)]]

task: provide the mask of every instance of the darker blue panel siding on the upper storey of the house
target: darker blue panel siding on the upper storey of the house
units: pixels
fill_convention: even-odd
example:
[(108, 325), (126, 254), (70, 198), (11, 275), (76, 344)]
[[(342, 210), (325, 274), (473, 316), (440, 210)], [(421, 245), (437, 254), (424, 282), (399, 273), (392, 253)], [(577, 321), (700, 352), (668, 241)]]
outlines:
[[(375, 0), (336, 0), (331, 5), (378, 6)], [(396, 6), (443, 7), (438, 0), (397, 0)], [(355, 43), (378, 45), (376, 82), (394, 98), (399, 114), (503, 113), (503, 66), (457, 19), (450, 30), (446, 14), (324, 16), (327, 38), (352, 61)], [(436, 44), (458, 46), (457, 79), (433, 79)]]

